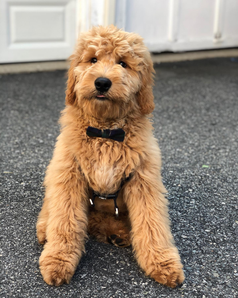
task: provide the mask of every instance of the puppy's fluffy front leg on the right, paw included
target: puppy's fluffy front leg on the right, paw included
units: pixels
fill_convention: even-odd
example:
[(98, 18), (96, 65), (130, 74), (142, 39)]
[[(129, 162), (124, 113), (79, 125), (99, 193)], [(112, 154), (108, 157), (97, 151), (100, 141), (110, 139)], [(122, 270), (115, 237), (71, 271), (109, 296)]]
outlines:
[(125, 186), (132, 246), (139, 265), (157, 282), (176, 287), (184, 280), (178, 250), (169, 227), (167, 199), (161, 177), (144, 168)]

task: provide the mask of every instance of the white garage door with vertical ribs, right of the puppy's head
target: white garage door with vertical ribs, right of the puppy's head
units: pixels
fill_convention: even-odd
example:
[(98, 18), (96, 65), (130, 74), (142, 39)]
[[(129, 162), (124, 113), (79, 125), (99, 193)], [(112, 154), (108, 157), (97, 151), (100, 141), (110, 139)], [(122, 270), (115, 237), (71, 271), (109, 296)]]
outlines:
[(238, 47), (238, 0), (117, 0), (115, 19), (153, 52)]

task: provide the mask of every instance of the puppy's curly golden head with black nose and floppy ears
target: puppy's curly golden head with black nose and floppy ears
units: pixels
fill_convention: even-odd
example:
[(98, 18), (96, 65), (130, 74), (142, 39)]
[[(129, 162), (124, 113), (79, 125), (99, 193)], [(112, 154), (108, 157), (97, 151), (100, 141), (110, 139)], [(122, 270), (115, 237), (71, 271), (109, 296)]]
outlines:
[(154, 109), (153, 64), (142, 38), (114, 26), (81, 34), (71, 56), (66, 105), (78, 105), (97, 118)]

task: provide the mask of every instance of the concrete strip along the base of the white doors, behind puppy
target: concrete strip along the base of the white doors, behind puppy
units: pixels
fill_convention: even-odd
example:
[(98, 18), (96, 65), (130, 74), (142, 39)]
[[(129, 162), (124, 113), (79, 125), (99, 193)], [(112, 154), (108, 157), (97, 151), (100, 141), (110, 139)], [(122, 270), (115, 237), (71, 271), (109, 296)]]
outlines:
[[(159, 53), (151, 54), (153, 63), (178, 62), (188, 60), (199, 60), (208, 58), (238, 57), (238, 48), (203, 50), (183, 53)], [(69, 61), (44, 61), (0, 64), (0, 74), (13, 74), (23, 72), (67, 70)]]

